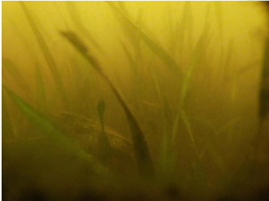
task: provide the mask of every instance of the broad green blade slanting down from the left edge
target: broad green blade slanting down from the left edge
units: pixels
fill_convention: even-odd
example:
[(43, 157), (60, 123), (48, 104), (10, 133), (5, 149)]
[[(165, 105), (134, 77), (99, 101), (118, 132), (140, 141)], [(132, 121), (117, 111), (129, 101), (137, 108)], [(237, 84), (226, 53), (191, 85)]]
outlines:
[(30, 123), (36, 125), (36, 127), (39, 128), (46, 137), (49, 137), (53, 139), (53, 141), (59, 143), (59, 146), (67, 149), (70, 154), (90, 162), (92, 165), (92, 169), (95, 173), (107, 172), (107, 170), (102, 165), (100, 165), (99, 162), (97, 162), (93, 157), (88, 155), (83, 149), (81, 149), (77, 144), (75, 144), (74, 141), (67, 138), (67, 136), (65, 136), (59, 130), (59, 128), (54, 125), (53, 121), (49, 117), (46, 117), (43, 113), (34, 109), (31, 105), (28, 104), (28, 102), (21, 99), (20, 96), (10, 91), (4, 85), (3, 88), (4, 91), (10, 95), (12, 101), (14, 101), (14, 103), (20, 109), (20, 112), (24, 115), (24, 117), (26, 117)]

